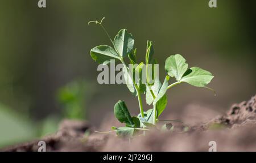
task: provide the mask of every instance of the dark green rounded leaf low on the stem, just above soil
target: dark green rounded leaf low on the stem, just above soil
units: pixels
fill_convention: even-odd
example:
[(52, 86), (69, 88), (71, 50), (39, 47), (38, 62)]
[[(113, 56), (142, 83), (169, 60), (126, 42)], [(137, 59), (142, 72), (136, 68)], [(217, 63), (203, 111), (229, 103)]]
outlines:
[(118, 101), (117, 104), (115, 104), (114, 114), (119, 122), (126, 123), (126, 126), (134, 127), (133, 118), (131, 118), (129, 110), (125, 105), (125, 101)]

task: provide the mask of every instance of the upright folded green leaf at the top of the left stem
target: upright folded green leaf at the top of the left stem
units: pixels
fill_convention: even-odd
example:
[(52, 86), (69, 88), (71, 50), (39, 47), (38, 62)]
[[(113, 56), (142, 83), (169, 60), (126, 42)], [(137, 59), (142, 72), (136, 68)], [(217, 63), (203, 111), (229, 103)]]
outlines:
[(127, 32), (127, 29), (121, 29), (114, 38), (114, 45), (121, 57), (125, 58), (133, 50), (133, 36)]

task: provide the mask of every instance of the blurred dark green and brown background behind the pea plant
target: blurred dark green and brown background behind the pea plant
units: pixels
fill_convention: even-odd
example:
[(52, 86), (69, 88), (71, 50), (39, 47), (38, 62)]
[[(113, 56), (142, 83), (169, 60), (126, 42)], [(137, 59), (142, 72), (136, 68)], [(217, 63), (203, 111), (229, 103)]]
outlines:
[(118, 100), (138, 112), (126, 85), (97, 83), (89, 50), (110, 42), (88, 21), (103, 16), (112, 37), (121, 28), (133, 33), (139, 61), (146, 40), (154, 41), (162, 79), (171, 54), (214, 74), (216, 97), (182, 84), (168, 92), (166, 113), (191, 102), (228, 109), (255, 95), (256, 1), (217, 0), (217, 8), (208, 0), (46, 2), (0, 0), (0, 147), (54, 132), (63, 118), (99, 126)]

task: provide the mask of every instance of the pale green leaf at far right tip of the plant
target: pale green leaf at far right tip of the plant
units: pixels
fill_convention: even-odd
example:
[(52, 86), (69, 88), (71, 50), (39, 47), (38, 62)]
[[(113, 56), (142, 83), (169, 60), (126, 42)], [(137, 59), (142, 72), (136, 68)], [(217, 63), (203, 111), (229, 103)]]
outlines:
[(199, 67), (190, 68), (180, 81), (186, 82), (196, 87), (205, 87), (214, 76)]

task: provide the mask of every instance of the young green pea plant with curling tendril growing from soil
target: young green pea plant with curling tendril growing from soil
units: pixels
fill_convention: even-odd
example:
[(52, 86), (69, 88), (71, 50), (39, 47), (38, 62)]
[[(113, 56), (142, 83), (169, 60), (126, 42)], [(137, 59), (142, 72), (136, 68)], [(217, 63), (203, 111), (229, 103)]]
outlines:
[[(114, 115), (119, 122), (125, 123), (125, 127), (112, 127), (118, 136), (134, 136), (139, 132), (150, 131), (151, 128), (157, 128), (156, 123), (159, 122), (159, 116), (166, 109), (168, 89), (180, 83), (188, 83), (195, 87), (206, 87), (213, 79), (213, 75), (199, 67), (188, 68), (186, 60), (180, 55), (171, 55), (166, 59), (165, 70), (168, 75), (163, 83), (160, 82), (158, 76), (154, 76), (154, 71), (157, 71), (151, 65), (157, 62), (153, 58), (154, 49), (152, 41), (147, 41), (145, 63), (137, 64), (137, 49), (134, 48), (134, 38), (127, 29), (121, 29), (114, 40), (109, 36), (108, 32), (102, 25), (102, 21), (91, 21), (100, 25), (105, 31), (112, 46), (100, 45), (90, 50), (90, 55), (94, 61), (100, 64), (108, 64), (111, 59), (119, 61), (123, 65), (123, 76), (126, 81), (127, 88), (132, 95), (137, 96), (140, 113), (138, 116), (132, 117), (125, 104), (125, 101), (118, 101), (114, 106)], [(124, 59), (129, 58), (131, 67), (127, 67)], [(146, 68), (146, 72), (142, 71)], [(134, 79), (133, 73), (139, 73), (139, 78)], [(152, 80), (152, 74), (154, 79)], [(146, 78), (146, 82), (142, 79)], [(168, 85), (170, 77), (175, 78), (176, 82)], [(213, 91), (213, 89), (208, 88)], [(142, 95), (146, 94), (146, 103), (152, 105), (152, 109), (144, 110), (142, 105)], [(173, 130), (173, 126), (166, 124), (161, 127), (162, 130)]]

